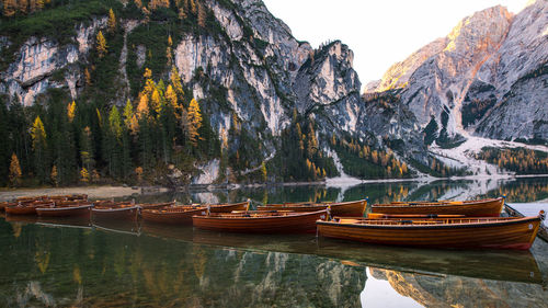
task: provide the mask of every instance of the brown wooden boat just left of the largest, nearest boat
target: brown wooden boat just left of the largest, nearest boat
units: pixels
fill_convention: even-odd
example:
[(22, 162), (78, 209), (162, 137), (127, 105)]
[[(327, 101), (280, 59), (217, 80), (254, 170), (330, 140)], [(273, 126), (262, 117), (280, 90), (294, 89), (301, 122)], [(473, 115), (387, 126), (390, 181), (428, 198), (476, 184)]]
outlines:
[(313, 232), (316, 220), (326, 219), (327, 209), (307, 213), (295, 212), (254, 212), (254, 213), (213, 213), (193, 216), (196, 228), (231, 232), (298, 233)]

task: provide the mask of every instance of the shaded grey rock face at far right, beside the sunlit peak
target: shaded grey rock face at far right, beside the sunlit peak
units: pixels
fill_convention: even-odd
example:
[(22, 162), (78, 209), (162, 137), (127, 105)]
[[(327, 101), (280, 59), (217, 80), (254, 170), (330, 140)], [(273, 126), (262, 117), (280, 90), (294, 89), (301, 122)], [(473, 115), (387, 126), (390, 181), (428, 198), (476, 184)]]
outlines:
[[(495, 139), (548, 140), (548, 2), (517, 14), (465, 100), (467, 124)], [(476, 111), (476, 112), (475, 112)]]

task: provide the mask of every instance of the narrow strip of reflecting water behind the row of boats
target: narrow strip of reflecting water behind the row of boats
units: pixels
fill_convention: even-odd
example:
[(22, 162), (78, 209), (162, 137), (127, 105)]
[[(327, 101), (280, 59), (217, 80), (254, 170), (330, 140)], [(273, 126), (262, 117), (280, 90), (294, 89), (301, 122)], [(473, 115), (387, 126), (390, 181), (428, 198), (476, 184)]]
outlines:
[(365, 183), (352, 187), (324, 185), (242, 187), (232, 191), (178, 192), (127, 197), (137, 202), (222, 203), (250, 198), (254, 205), (299, 201), (353, 201), (369, 198), (369, 204), (416, 199), (469, 199), (506, 195), (506, 202), (548, 198), (548, 178), (482, 179), (434, 182)]

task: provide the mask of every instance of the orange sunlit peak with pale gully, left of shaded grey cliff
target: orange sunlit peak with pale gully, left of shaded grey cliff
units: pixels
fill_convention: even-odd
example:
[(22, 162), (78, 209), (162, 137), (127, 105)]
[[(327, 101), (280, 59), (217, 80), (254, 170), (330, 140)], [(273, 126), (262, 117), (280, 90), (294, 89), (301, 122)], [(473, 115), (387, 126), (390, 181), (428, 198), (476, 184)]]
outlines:
[(460, 105), (471, 80), (505, 39), (512, 14), (493, 7), (463, 19), (435, 39), (393, 65), (377, 91), (403, 88), (401, 100), (424, 127), (432, 117), (448, 136), (461, 134)]

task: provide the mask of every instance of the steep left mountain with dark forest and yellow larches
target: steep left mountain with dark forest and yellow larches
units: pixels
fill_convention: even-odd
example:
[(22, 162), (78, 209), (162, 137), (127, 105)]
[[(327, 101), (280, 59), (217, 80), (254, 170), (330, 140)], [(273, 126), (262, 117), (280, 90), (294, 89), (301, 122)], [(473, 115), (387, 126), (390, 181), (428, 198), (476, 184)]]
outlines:
[[(65, 171), (87, 164), (80, 155), (85, 127), (85, 138), (93, 140), (87, 169), (98, 179), (140, 179), (142, 171), (135, 170), (142, 168), (150, 182), (172, 173), (167, 181), (175, 185), (264, 176), (313, 181), (343, 169), (352, 173), (349, 166), (361, 159), (358, 149), (375, 151), (375, 161), (369, 160), (379, 164), (374, 171), (363, 168), (364, 176), (386, 178), (395, 170), (402, 170), (398, 178), (411, 175), (363, 122), (370, 114), (359, 95), (352, 50), (340, 41), (318, 49), (297, 41), (260, 0), (52, 1), (43, 11), (21, 10), (2, 19), (0, 94), (10, 105), (5, 118), (23, 123), (9, 125), (13, 132), (7, 133), (11, 137), (0, 156), (9, 162), (16, 153), (23, 173), (41, 174), (41, 182), (49, 182), (47, 174), (59, 163), (70, 161)], [(99, 32), (106, 41), (104, 55), (98, 49)], [(184, 91), (176, 93), (170, 119), (162, 111), (169, 105), (168, 85), (176, 88), (173, 72)], [(192, 99), (204, 117), (196, 141), (185, 121)], [(72, 119), (61, 112), (71, 101), (78, 123), (66, 123)], [(49, 107), (54, 103), (58, 106)], [(23, 111), (10, 115), (20, 104)], [(147, 121), (140, 104), (150, 107)], [(128, 115), (113, 115), (113, 106)], [(59, 125), (44, 118), (54, 111), (54, 117), (64, 117)], [(27, 151), (37, 117), (46, 136), (41, 162)], [(125, 123), (119, 129), (116, 117)], [(72, 139), (60, 140), (70, 148), (68, 160), (60, 155), (67, 151), (54, 152), (50, 146), (65, 125), (78, 126), (71, 127)], [(8, 174), (8, 164), (0, 173)], [(73, 182), (78, 174), (64, 176), (61, 182)]]

